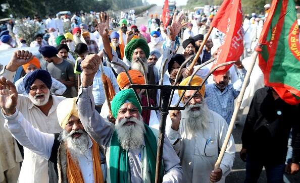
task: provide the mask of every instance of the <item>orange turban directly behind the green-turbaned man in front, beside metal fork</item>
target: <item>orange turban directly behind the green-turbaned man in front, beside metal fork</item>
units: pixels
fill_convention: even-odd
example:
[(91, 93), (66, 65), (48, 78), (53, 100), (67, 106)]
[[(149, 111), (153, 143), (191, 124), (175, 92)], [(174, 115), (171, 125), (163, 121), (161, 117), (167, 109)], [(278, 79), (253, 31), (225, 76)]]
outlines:
[[(130, 70), (130, 71), (128, 71), (128, 74), (131, 77), (133, 84), (139, 84), (139, 85), (145, 84), (145, 78), (141, 74), (141, 72), (139, 72), (138, 70)], [(118, 83), (119, 87), (121, 88), (121, 90), (123, 90), (123, 88), (126, 85), (130, 84), (125, 72), (122, 72), (118, 75), (117, 83)]]

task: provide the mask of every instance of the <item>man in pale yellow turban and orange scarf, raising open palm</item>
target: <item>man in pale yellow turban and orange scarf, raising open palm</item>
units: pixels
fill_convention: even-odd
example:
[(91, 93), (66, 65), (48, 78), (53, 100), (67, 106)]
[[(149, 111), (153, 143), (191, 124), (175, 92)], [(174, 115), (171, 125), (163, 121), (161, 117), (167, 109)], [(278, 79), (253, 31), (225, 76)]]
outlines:
[(16, 96), (14, 84), (1, 77), (0, 105), (4, 126), (21, 145), (48, 161), (49, 182), (105, 182), (104, 149), (84, 131), (78, 118), (76, 98), (59, 103), (57, 117), (63, 131), (48, 134), (33, 128), (24, 118), (16, 107)]

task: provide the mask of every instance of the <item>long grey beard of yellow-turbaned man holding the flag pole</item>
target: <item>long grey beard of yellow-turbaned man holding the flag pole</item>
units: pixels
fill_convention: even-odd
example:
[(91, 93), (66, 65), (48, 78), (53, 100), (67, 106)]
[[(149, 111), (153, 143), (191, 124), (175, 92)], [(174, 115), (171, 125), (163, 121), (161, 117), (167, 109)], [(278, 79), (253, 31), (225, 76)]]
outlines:
[[(191, 108), (193, 107), (199, 107), (199, 110), (192, 111)], [(195, 105), (189, 104), (185, 107), (183, 112), (186, 116), (185, 127), (187, 134), (193, 136), (196, 132), (209, 128), (209, 109), (204, 102)]]

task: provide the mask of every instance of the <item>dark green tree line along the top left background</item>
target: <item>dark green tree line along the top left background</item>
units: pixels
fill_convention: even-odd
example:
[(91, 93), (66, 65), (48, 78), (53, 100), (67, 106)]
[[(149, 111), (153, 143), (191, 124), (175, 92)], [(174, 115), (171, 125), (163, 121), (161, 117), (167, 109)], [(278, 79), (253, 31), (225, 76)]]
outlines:
[(33, 17), (39, 15), (44, 18), (48, 14), (55, 15), (60, 11), (75, 12), (100, 12), (107, 10), (122, 10), (142, 6), (142, 0), (0, 0), (2, 11), (1, 18), (7, 18), (10, 15), (16, 17)]

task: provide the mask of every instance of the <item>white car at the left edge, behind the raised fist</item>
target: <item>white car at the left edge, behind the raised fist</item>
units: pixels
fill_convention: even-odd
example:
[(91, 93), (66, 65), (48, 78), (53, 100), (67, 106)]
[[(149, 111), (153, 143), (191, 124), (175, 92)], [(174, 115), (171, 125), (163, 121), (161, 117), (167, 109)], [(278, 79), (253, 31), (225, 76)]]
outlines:
[[(13, 56), (13, 53), (16, 50), (28, 50), (39, 59), (41, 69), (46, 68), (46, 61), (43, 59), (42, 55), (38, 51), (38, 47), (22, 47), (22, 48), (11, 48), (11, 49), (0, 51), (0, 55), (1, 55), (0, 71), (2, 71), (2, 69), (10, 62), (11, 57)], [(20, 66), (16, 71), (13, 83), (15, 83), (18, 79), (22, 78), (23, 76), (25, 76), (25, 71), (23, 70), (22, 66)]]

